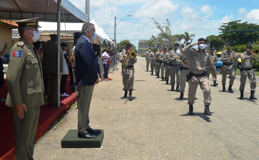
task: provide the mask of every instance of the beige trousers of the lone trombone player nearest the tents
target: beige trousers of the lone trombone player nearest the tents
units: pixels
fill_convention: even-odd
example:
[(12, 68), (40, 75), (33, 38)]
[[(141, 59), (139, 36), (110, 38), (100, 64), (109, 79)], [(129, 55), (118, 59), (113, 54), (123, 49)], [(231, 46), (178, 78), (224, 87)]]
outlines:
[(134, 68), (123, 68), (122, 79), (124, 81), (123, 90), (133, 90), (134, 85)]

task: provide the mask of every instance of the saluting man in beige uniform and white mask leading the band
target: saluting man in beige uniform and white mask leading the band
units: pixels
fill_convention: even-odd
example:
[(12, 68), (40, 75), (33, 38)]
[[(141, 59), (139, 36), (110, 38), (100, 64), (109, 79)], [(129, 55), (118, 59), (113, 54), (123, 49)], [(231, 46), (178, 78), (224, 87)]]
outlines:
[[(192, 46), (198, 45), (198, 49), (192, 49)], [(209, 105), (211, 104), (211, 92), (210, 85), (207, 78), (207, 66), (212, 70), (216, 70), (216, 67), (213, 65), (209, 53), (207, 53), (205, 48), (206, 40), (204, 38), (199, 38), (198, 42), (187, 45), (182, 53), (189, 56), (191, 72), (187, 77), (189, 83), (188, 89), (188, 104), (189, 104), (189, 115), (193, 115), (193, 104), (195, 99), (195, 94), (198, 85), (204, 95), (204, 115), (211, 115), (209, 110)]]

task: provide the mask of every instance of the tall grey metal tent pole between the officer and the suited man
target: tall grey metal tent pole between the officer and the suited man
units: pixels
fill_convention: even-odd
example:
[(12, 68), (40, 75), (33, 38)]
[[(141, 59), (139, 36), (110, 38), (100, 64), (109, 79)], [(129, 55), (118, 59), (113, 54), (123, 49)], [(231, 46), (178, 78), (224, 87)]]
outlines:
[(60, 108), (60, 4), (62, 0), (58, 0), (57, 5), (57, 14), (58, 14), (58, 20), (57, 20), (57, 106)]

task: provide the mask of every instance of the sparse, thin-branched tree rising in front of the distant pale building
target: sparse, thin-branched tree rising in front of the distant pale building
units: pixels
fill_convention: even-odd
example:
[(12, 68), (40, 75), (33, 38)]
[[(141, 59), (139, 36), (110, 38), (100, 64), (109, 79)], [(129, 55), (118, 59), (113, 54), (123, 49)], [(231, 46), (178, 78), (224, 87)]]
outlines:
[(172, 35), (172, 31), (171, 31), (171, 23), (169, 22), (169, 20), (167, 19), (166, 22), (163, 22), (163, 24), (160, 24), (158, 22), (156, 22), (156, 20), (154, 18), (150, 18), (154, 20), (154, 23), (156, 24), (157, 28), (160, 30), (160, 33), (158, 33), (157, 37), (161, 38), (162, 40), (168, 40), (171, 44), (171, 46), (173, 46), (173, 43), (176, 40), (176, 36)]

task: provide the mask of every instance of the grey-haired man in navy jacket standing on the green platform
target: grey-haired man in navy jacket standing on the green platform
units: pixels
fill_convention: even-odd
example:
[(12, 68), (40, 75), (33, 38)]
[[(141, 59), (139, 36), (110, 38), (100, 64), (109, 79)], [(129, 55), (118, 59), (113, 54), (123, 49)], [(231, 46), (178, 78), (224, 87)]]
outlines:
[(84, 23), (81, 33), (75, 48), (75, 85), (78, 86), (78, 137), (96, 138), (93, 134), (99, 131), (93, 130), (89, 126), (88, 116), (94, 85), (100, 82), (97, 58), (90, 43), (96, 37), (94, 25), (88, 22)]

